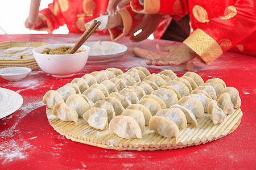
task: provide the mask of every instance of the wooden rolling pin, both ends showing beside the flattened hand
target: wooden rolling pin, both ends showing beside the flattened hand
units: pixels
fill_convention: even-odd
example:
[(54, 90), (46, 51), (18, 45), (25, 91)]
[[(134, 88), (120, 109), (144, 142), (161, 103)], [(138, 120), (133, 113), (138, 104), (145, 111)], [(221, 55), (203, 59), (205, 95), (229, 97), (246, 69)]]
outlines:
[[(137, 47), (133, 48), (133, 54), (134, 54), (134, 56), (142, 57), (142, 58), (146, 58), (146, 59), (150, 59), (150, 60), (157, 59), (157, 58), (164, 56), (163, 54), (150, 52), (148, 50), (137, 48)], [(192, 71), (194, 69), (194, 63), (191, 61), (188, 61), (185, 63), (181, 63), (180, 65), (176, 65), (175, 67), (179, 67), (184, 70)]]

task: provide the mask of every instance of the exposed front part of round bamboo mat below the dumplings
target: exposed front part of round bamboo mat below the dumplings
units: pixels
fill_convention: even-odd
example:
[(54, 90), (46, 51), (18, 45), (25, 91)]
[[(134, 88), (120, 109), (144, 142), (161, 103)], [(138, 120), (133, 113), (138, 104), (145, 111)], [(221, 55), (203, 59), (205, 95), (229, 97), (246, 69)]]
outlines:
[(76, 125), (75, 122), (59, 120), (52, 114), (52, 109), (48, 107), (46, 107), (46, 114), (53, 129), (72, 141), (120, 151), (155, 151), (196, 146), (225, 137), (240, 125), (243, 113), (240, 108), (236, 109), (234, 113), (225, 117), (224, 122), (216, 125), (205, 114), (203, 118), (197, 119), (197, 128), (188, 124), (187, 128), (180, 130), (180, 137), (176, 142), (175, 138), (164, 138), (154, 131), (148, 130), (148, 126), (142, 133), (142, 139), (124, 139), (118, 137), (109, 129), (98, 130), (92, 128), (81, 117)]

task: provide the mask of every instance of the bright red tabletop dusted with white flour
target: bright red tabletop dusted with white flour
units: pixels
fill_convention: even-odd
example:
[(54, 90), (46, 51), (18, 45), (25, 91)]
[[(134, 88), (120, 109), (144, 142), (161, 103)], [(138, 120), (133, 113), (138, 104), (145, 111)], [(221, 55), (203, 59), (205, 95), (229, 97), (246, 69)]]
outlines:
[[(43, 41), (50, 44), (76, 42), (80, 34), (69, 35), (0, 35), (0, 42)], [(91, 36), (88, 41), (110, 40), (109, 36)], [(131, 50), (155, 49), (156, 44), (178, 45), (166, 40), (131, 42), (128, 37), (117, 41), (128, 51), (113, 61), (86, 63), (69, 78), (54, 78), (42, 70), (33, 70), (18, 82), (0, 78), (0, 87), (18, 92), (23, 105), (15, 113), (0, 120), (0, 169), (255, 169), (255, 63), (256, 58), (226, 52), (211, 65), (194, 61), (195, 71), (204, 81), (221, 78), (227, 86), (240, 92), (243, 112), (241, 124), (228, 136), (199, 146), (160, 151), (115, 151), (73, 142), (57, 133), (46, 116), (43, 95), (56, 90), (92, 71), (116, 67), (123, 71), (131, 67), (146, 67), (151, 73), (172, 70), (178, 76), (185, 73), (174, 66), (147, 66), (144, 59), (134, 57)]]

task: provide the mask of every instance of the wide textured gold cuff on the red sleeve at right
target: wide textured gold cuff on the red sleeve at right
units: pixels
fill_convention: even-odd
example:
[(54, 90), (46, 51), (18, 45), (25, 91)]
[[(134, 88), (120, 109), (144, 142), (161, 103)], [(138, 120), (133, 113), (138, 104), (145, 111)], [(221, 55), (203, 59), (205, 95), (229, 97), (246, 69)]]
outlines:
[(189, 48), (196, 52), (199, 55), (197, 59), (207, 65), (223, 54), (218, 42), (201, 29), (196, 29), (196, 31), (183, 41), (183, 44), (189, 46)]

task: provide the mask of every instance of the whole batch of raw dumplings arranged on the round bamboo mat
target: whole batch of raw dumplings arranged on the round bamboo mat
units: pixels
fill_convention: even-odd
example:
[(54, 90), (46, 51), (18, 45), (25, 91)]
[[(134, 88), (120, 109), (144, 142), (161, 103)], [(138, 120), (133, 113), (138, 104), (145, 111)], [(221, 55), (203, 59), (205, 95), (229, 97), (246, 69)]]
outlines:
[(239, 108), (238, 90), (219, 78), (204, 80), (187, 72), (177, 77), (171, 70), (150, 74), (144, 67), (109, 68), (75, 78), (43, 103), (63, 121), (84, 118), (90, 126), (112, 130), (126, 139), (142, 138), (145, 126), (166, 138), (179, 138), (179, 130), (209, 114), (213, 124)]

